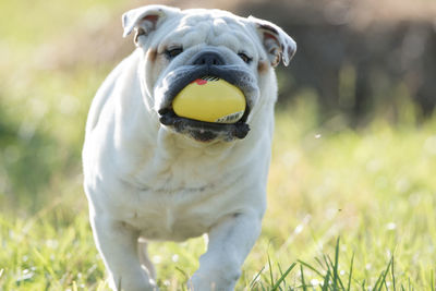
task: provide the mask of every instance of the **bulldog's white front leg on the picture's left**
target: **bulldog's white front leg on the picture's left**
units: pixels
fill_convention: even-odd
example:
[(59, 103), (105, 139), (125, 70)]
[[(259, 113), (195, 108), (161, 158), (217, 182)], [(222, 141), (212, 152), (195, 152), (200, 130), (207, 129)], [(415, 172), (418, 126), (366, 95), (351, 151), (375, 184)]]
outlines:
[(134, 229), (106, 217), (94, 217), (92, 226), (97, 247), (110, 272), (113, 290), (157, 290), (141, 267), (137, 255), (138, 233)]

